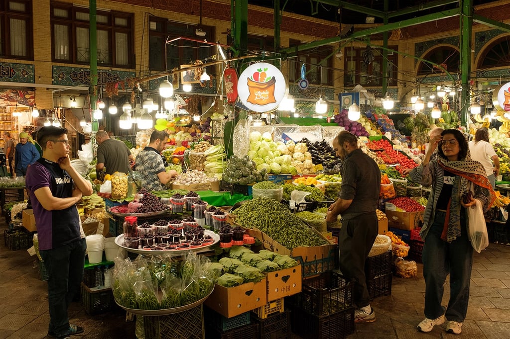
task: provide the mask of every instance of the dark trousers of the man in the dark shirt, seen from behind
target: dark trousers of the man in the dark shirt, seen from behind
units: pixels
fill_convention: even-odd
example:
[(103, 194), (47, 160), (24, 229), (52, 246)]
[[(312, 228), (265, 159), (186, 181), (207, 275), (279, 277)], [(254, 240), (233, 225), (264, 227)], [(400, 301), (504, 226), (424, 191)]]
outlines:
[(338, 239), (340, 271), (345, 278), (355, 279), (353, 299), (357, 307), (370, 304), (365, 261), (377, 237), (377, 228), (375, 212), (342, 221)]

